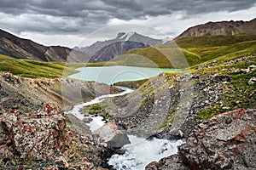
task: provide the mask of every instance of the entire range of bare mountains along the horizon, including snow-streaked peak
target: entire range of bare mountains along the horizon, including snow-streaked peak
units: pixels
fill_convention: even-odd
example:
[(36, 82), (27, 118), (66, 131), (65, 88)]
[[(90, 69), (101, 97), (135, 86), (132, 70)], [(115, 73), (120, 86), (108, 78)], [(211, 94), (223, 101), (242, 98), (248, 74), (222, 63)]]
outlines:
[[(256, 34), (256, 19), (250, 21), (207, 22), (206, 24), (190, 27), (174, 40), (177, 41), (184, 37), (236, 36), (242, 34)], [(39, 61), (101, 62), (115, 59), (124, 53), (131, 54), (134, 52), (132, 51), (134, 48), (138, 48), (136, 54), (140, 54), (142, 50), (143, 53), (146, 53), (147, 49), (143, 49), (144, 47), (157, 46), (168, 43), (168, 41), (170, 42), (169, 39), (160, 40), (145, 37), (137, 32), (119, 32), (117, 37), (113, 39), (95, 42), (89, 47), (75, 47), (72, 49), (61, 46), (46, 47), (0, 30), (0, 54), (15, 59), (35, 59)]]

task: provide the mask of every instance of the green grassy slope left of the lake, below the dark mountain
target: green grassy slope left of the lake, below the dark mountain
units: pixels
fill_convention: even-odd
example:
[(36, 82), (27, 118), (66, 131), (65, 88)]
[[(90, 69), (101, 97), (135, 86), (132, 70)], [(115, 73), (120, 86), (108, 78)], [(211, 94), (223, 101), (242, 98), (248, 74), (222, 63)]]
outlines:
[[(40, 62), (31, 59), (14, 59), (0, 54), (0, 71), (10, 71), (15, 75), (22, 77), (62, 77), (64, 63)], [(65, 68), (67, 74), (73, 74), (77, 71)]]

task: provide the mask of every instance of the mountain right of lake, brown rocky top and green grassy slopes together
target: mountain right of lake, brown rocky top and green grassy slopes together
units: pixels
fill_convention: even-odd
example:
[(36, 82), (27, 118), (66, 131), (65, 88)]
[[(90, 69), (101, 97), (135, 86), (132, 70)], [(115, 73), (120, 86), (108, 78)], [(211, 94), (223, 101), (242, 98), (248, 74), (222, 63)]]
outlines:
[(186, 68), (219, 57), (256, 54), (256, 19), (208, 22), (153, 47), (134, 48), (112, 61), (118, 65)]

